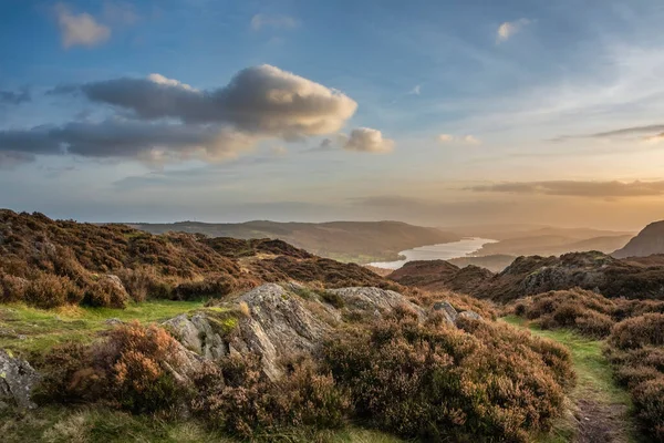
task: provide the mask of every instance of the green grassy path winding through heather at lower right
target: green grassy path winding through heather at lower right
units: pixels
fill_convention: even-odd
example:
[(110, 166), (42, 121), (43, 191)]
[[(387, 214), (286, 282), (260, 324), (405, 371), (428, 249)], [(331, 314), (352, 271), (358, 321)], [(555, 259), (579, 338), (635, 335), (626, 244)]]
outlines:
[[(542, 330), (515, 316), (504, 317), (502, 320), (528, 328), (536, 336), (556, 340), (569, 348), (578, 375), (577, 387), (570, 395), (572, 402), (578, 404), (580, 401), (592, 401), (605, 406), (618, 405), (626, 411), (631, 410), (630, 394), (615, 383), (611, 365), (602, 354), (603, 341), (584, 338), (570, 330)], [(572, 416), (566, 415), (549, 435), (542, 436), (541, 442), (569, 442), (575, 433), (573, 421)], [(639, 441), (634, 429), (632, 419), (624, 416), (624, 434), (629, 442)]]

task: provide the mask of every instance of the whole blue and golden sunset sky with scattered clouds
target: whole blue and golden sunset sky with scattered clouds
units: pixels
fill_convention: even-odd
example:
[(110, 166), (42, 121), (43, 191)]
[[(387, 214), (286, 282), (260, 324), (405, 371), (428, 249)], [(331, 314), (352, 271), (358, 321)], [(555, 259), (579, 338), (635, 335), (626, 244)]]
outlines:
[(0, 0), (0, 207), (664, 219), (661, 0)]

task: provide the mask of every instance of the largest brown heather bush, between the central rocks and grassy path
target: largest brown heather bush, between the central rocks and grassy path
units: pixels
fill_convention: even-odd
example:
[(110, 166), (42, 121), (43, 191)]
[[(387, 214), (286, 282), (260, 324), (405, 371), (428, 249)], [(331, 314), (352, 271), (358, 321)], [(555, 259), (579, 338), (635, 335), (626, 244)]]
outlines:
[[(569, 353), (508, 326), (460, 324), (468, 331), (400, 310), (335, 337), (324, 359), (357, 416), (400, 435), (525, 442), (548, 429), (564, 398), (558, 380), (572, 373)], [(548, 357), (541, 347), (551, 347)]]

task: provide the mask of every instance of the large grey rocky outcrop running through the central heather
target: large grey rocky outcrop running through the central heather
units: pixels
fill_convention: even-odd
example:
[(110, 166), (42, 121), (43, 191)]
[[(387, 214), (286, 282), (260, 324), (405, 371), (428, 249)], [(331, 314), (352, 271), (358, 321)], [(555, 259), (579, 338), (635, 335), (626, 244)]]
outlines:
[[(380, 288), (353, 287), (312, 291), (291, 282), (266, 284), (230, 302), (175, 317), (163, 323), (183, 343), (206, 360), (234, 353), (260, 356), (264, 373), (272, 380), (282, 374), (283, 358), (311, 353), (325, 336), (346, 319), (380, 318), (405, 307), (424, 321), (427, 311), (403, 295)], [(449, 324), (459, 316), (479, 318), (439, 302)]]

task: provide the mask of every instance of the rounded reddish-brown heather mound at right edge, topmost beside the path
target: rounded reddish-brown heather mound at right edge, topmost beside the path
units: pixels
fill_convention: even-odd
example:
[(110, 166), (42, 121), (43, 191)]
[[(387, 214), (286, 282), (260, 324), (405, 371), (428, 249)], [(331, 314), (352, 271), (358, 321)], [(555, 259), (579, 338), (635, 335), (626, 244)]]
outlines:
[(664, 313), (645, 313), (618, 323), (609, 338), (619, 349), (664, 346)]

